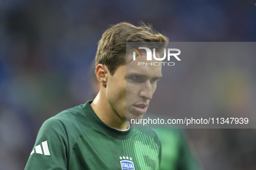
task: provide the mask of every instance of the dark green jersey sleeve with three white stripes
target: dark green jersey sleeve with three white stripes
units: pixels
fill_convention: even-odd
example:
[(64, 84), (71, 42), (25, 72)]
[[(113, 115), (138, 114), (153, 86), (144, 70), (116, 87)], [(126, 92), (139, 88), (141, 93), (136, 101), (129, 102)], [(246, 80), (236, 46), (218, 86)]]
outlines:
[(67, 170), (68, 137), (65, 124), (54, 117), (40, 128), (25, 170)]

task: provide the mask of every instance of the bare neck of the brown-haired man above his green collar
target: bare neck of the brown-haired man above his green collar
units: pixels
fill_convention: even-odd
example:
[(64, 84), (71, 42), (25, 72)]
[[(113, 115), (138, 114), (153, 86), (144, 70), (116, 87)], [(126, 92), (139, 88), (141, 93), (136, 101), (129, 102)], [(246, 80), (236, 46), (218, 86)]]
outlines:
[(96, 98), (91, 103), (91, 107), (100, 120), (106, 125), (113, 127), (114, 129), (127, 129), (126, 127), (128, 127), (129, 122), (123, 120), (119, 114), (113, 110), (107, 102), (107, 98), (103, 91), (97, 94)]

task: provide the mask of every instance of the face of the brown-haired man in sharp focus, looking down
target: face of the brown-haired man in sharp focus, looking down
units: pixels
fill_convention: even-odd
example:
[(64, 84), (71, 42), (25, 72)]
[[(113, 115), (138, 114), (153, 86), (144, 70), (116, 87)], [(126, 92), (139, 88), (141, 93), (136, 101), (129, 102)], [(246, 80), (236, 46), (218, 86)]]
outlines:
[[(146, 56), (146, 54), (144, 55)], [(153, 58), (153, 57), (152, 57)], [(162, 77), (162, 66), (139, 65), (146, 57), (136, 57), (126, 65), (119, 66), (108, 79), (107, 100), (113, 111), (123, 120), (142, 119), (149, 107), (149, 101), (156, 90), (156, 82)]]

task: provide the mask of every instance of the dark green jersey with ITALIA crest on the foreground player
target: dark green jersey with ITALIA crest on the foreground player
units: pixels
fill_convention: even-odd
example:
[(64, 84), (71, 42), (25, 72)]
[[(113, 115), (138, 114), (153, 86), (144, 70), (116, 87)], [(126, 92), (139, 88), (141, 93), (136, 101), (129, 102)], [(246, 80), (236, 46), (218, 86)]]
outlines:
[(160, 142), (152, 129), (120, 131), (103, 123), (91, 101), (43, 123), (25, 170), (158, 170)]

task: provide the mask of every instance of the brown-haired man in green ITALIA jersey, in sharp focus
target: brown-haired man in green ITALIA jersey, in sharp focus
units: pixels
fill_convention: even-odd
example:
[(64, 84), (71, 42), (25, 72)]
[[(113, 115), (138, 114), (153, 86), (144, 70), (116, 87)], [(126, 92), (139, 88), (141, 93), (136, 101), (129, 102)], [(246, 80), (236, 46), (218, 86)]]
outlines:
[[(134, 129), (129, 122), (146, 113), (162, 66), (138, 67), (137, 62), (146, 58), (130, 60), (126, 42), (168, 42), (168, 38), (145, 24), (119, 23), (107, 29), (96, 54), (97, 97), (43, 123), (26, 170), (159, 169), (161, 148), (156, 133)], [(163, 48), (157, 49), (157, 56)]]

